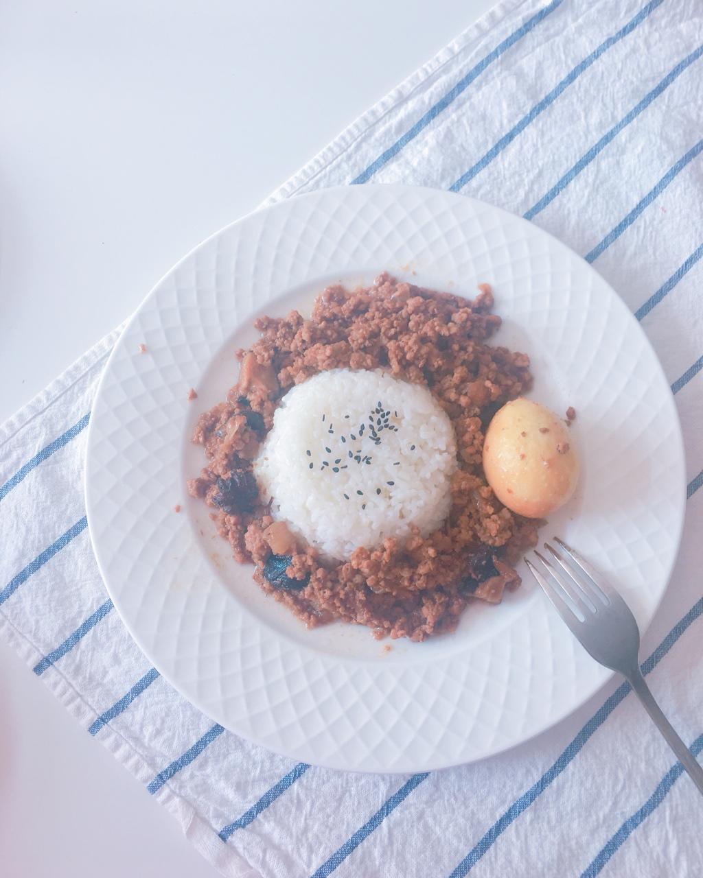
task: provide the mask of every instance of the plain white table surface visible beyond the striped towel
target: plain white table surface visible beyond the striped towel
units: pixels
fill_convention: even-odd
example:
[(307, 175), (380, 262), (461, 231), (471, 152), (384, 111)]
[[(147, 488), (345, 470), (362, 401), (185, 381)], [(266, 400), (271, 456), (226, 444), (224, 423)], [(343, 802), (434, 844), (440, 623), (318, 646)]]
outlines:
[[(4, 0), (0, 421), (491, 5)], [(0, 873), (217, 874), (3, 642)]]

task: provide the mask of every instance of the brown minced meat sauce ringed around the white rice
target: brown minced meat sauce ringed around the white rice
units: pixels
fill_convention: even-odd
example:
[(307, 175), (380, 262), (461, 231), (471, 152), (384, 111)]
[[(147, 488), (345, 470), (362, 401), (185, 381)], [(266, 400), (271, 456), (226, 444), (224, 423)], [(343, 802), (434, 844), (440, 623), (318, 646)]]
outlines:
[[(529, 389), (525, 354), (485, 342), (500, 326), (486, 284), (473, 300), (398, 283), (383, 274), (355, 291), (330, 286), (305, 320), (257, 320), (260, 337), (240, 350), (239, 381), (226, 401), (200, 416), (193, 442), (207, 466), (192, 496), (212, 507), (219, 534), (254, 579), (308, 626), (335, 619), (376, 637), (424, 640), (456, 627), (467, 602), (498, 603), (520, 584), (512, 566), (537, 541), (540, 522), (501, 505), (482, 471), (483, 431), (509, 399)], [(404, 544), (387, 539), (348, 561), (321, 558), (274, 522), (252, 472), (279, 399), (328, 369), (377, 369), (425, 385), (453, 423), (458, 469), (444, 525)]]

